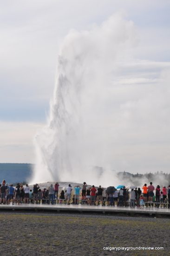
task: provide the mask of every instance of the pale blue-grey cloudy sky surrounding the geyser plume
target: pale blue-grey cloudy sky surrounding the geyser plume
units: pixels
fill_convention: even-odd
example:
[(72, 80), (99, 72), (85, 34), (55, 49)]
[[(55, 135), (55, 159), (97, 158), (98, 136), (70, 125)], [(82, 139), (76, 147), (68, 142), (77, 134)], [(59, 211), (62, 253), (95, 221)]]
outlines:
[[(122, 12), (127, 20), (132, 20), (137, 34), (133, 49), (136, 64), (130, 64), (131, 78), (124, 82), (144, 85), (166, 79), (168, 84), (169, 0), (0, 1), (0, 162), (35, 162), (33, 137), (46, 123), (60, 45), (72, 28), (90, 30), (115, 12)], [(125, 69), (128, 72), (127, 66)], [(144, 90), (139, 87), (140, 93)], [(148, 102), (154, 104), (157, 112), (166, 95), (166, 106), (158, 113), (165, 120), (169, 118), (168, 93), (162, 93), (157, 101), (160, 94), (156, 88), (153, 102), (152, 97), (146, 98), (146, 106)], [(123, 108), (127, 111), (134, 108), (131, 104), (126, 103)], [(132, 121), (135, 129), (135, 119)], [(150, 123), (152, 126), (154, 123)], [(163, 152), (170, 151), (167, 128), (169, 123), (161, 128), (163, 134), (159, 138)], [(167, 170), (169, 159), (163, 153), (162, 158)]]

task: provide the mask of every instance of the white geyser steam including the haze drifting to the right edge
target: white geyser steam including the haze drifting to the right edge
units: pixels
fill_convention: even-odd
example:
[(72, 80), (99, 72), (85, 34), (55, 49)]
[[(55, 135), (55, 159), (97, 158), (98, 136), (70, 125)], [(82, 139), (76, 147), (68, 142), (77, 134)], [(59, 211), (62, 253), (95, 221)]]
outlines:
[[(133, 22), (120, 14), (100, 27), (72, 30), (66, 36), (49, 120), (36, 135), (32, 182), (118, 185), (113, 168), (157, 171), (161, 159), (166, 165), (169, 159), (163, 154), (169, 146), (160, 143), (170, 128), (170, 119), (165, 119), (170, 91), (164, 77), (160, 87), (154, 64), (132, 58), (136, 44)], [(157, 146), (162, 147), (163, 158)]]

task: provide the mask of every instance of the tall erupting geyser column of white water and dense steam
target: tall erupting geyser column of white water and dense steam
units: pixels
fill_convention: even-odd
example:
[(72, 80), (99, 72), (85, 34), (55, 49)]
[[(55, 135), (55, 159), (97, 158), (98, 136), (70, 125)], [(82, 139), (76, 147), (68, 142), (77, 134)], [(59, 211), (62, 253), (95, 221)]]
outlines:
[(126, 59), (126, 50), (134, 40), (133, 30), (131, 21), (116, 14), (100, 27), (80, 33), (72, 30), (66, 36), (59, 53), (49, 119), (35, 138), (33, 182), (90, 181), (102, 176), (101, 168), (98, 171), (92, 166), (111, 166), (107, 143), (112, 123), (107, 113), (112, 109), (106, 99), (111, 77), (115, 75), (116, 81), (118, 62)]

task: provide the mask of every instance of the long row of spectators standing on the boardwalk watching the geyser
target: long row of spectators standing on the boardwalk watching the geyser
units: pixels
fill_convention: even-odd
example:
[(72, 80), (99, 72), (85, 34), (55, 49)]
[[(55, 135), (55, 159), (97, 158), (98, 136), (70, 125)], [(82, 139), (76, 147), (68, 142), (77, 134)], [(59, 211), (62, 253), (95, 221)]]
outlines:
[(101, 187), (89, 186), (86, 182), (82, 187), (76, 185), (72, 188), (71, 184), (65, 189), (60, 189), (59, 183), (56, 182), (50, 185), (48, 189), (41, 190), (38, 184), (33, 185), (33, 189), (28, 184), (23, 186), (18, 183), (15, 187), (13, 184), (8, 184), (5, 180), (0, 184), (0, 204), (20, 204), (20, 203), (66, 203), (78, 204), (81, 200), (82, 204), (87, 205), (102, 205), (114, 207), (139, 207), (140, 209), (152, 206), (170, 208), (170, 185), (161, 189), (157, 185), (156, 189), (150, 182), (150, 185), (144, 184), (141, 188), (126, 188), (120, 186), (120, 189), (109, 187), (107, 189)]

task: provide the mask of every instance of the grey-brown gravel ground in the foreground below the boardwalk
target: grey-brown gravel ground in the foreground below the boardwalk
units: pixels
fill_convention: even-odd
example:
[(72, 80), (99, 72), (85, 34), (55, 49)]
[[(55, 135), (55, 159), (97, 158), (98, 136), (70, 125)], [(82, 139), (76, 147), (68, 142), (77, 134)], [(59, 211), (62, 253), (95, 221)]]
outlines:
[[(80, 214), (0, 213), (4, 256), (170, 255), (170, 220)], [(103, 247), (163, 246), (163, 251)]]

